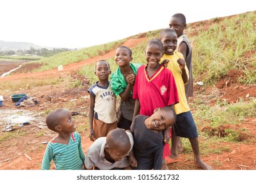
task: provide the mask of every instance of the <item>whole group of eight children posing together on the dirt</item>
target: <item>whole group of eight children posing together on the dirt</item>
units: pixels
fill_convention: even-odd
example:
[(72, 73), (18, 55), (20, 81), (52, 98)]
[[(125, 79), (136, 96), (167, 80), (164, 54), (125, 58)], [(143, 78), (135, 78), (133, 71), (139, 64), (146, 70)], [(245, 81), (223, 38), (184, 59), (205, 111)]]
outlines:
[(131, 63), (127, 46), (117, 48), (118, 68), (110, 80), (108, 61), (96, 62), (98, 82), (88, 90), (89, 137), (94, 142), (85, 155), (70, 111), (60, 108), (47, 115), (47, 126), (58, 135), (47, 144), (42, 169), (49, 169), (52, 159), (56, 169), (168, 169), (166, 164), (179, 158), (179, 137), (189, 139), (197, 167), (213, 169), (200, 158), (198, 132), (188, 106), (192, 50), (183, 33), (184, 15), (173, 15), (169, 27), (161, 31), (160, 39), (148, 41), (145, 65)]

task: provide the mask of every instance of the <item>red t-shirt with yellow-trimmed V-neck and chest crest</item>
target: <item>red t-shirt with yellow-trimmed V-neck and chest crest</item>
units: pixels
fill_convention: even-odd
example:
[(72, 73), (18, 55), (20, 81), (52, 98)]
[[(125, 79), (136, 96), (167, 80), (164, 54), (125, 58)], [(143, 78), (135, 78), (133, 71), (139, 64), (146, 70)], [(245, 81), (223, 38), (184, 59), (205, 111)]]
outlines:
[(133, 99), (140, 101), (140, 114), (151, 116), (154, 109), (179, 103), (175, 79), (169, 69), (161, 66), (158, 71), (148, 78), (146, 66), (142, 65), (137, 71)]

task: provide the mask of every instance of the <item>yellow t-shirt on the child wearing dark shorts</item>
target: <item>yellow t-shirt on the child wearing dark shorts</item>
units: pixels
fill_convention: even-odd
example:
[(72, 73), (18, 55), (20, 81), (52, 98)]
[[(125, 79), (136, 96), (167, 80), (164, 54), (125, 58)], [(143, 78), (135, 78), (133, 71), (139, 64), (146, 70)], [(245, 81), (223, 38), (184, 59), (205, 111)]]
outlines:
[[(188, 107), (188, 103), (186, 101), (185, 87), (184, 82), (182, 80), (182, 71), (179, 67), (179, 63), (177, 62), (179, 58), (184, 59), (180, 52), (175, 51), (173, 52), (173, 55), (163, 54), (163, 57), (161, 58), (160, 61), (161, 63), (164, 59), (169, 59), (167, 69), (169, 69), (173, 73), (173, 76), (175, 78), (179, 95), (179, 103), (174, 105), (174, 110), (176, 114), (181, 114), (182, 112), (188, 112), (190, 110), (190, 108)], [(185, 66), (185, 69), (186, 75), (188, 75), (188, 67)]]

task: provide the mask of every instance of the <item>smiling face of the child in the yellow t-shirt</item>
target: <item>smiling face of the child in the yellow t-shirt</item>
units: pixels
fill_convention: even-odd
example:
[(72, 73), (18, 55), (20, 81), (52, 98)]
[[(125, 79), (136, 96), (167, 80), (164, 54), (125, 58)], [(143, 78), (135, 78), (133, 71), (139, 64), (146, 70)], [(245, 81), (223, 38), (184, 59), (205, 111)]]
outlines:
[(177, 34), (175, 32), (167, 32), (161, 39), (163, 42), (163, 50), (167, 55), (173, 55), (173, 52), (177, 48)]

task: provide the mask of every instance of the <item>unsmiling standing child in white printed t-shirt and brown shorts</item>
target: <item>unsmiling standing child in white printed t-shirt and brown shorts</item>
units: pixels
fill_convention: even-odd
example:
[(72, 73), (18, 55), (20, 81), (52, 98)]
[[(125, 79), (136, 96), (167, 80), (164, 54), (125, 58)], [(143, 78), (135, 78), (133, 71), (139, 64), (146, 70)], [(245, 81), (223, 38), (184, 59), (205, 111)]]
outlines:
[(117, 128), (116, 95), (112, 92), (108, 76), (110, 65), (106, 60), (100, 60), (95, 65), (95, 75), (98, 82), (88, 90), (90, 94), (89, 125), (90, 139), (106, 137), (109, 131)]

